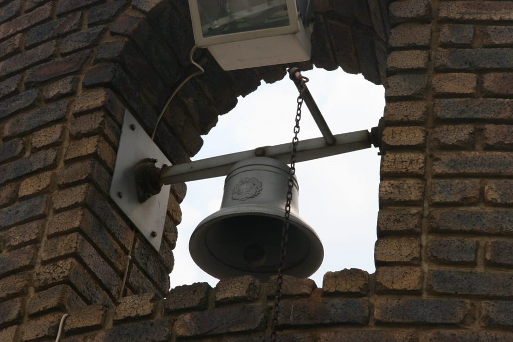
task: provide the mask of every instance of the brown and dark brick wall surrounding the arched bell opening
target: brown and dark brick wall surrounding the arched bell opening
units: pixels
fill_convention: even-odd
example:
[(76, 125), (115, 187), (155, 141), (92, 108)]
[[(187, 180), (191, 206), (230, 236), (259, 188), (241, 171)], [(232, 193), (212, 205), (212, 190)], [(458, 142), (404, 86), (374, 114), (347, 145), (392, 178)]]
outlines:
[[(288, 278), (281, 340), (513, 340), (513, 3), (315, 0), (311, 65), (386, 89), (377, 271)], [(154, 252), (108, 191), (125, 109), (147, 131), (189, 70), (185, 0), (0, 0), (0, 340), (265, 340), (274, 283), (168, 292), (185, 184)], [(285, 66), (207, 70), (156, 141), (189, 160)], [(131, 256), (129, 262), (128, 255)], [(128, 264), (126, 287), (123, 276)], [(165, 298), (165, 299), (163, 299)]]

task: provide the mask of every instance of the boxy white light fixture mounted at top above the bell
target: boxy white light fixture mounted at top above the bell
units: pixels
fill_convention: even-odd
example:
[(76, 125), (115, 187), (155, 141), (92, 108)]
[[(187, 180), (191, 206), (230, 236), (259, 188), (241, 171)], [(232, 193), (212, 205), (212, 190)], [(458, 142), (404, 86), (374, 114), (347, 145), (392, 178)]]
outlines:
[(196, 46), (224, 70), (310, 59), (312, 0), (189, 0)]

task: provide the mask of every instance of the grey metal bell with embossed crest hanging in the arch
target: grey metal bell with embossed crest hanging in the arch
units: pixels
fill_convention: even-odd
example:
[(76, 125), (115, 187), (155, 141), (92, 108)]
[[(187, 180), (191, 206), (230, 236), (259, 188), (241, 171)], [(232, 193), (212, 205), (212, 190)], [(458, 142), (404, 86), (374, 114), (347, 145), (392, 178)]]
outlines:
[[(277, 274), (289, 167), (266, 157), (236, 163), (225, 180), (218, 212), (205, 218), (189, 240), (192, 259), (208, 274), (226, 279)], [(284, 274), (306, 278), (320, 267), (324, 249), (299, 217), (294, 177)]]

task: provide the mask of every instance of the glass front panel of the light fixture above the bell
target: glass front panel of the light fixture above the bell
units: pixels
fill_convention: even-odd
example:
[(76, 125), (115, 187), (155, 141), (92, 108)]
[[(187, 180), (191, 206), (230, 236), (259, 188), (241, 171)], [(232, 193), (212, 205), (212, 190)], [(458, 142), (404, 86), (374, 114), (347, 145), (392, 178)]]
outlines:
[(288, 26), (286, 0), (198, 0), (204, 37)]

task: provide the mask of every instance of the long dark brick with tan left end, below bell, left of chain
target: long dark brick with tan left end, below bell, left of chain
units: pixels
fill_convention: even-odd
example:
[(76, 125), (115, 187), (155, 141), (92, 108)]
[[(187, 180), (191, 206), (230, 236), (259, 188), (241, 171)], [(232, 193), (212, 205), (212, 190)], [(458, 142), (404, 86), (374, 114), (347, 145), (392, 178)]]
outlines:
[(174, 331), (179, 337), (253, 331), (260, 328), (263, 321), (261, 305), (219, 308), (180, 315), (175, 321)]

